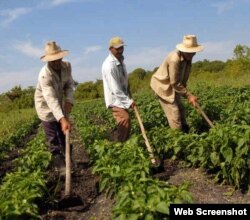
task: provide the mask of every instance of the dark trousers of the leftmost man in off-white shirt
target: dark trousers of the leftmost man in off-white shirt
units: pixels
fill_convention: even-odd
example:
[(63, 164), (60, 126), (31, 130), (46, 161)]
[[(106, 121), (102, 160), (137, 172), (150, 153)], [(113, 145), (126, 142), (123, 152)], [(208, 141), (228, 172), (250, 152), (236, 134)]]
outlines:
[(65, 135), (62, 132), (61, 124), (57, 121), (42, 121), (42, 125), (49, 143), (51, 153), (63, 153), (65, 151)]

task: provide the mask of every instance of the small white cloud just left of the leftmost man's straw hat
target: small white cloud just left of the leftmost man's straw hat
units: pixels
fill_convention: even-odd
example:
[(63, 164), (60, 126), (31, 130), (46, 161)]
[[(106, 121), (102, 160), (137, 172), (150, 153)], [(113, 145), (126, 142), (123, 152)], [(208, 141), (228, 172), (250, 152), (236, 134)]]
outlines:
[(13, 48), (29, 57), (35, 57), (35, 58), (41, 57), (41, 55), (44, 53), (42, 49), (33, 46), (30, 41), (18, 42), (17, 44), (13, 45)]

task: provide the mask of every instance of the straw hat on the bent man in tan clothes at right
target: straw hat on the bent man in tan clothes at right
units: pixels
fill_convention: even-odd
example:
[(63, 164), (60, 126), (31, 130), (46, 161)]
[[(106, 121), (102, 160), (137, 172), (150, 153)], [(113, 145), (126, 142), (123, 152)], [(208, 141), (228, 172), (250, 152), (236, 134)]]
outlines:
[(185, 53), (196, 53), (202, 51), (204, 46), (197, 43), (197, 38), (195, 35), (184, 35), (181, 44), (177, 44), (176, 48)]

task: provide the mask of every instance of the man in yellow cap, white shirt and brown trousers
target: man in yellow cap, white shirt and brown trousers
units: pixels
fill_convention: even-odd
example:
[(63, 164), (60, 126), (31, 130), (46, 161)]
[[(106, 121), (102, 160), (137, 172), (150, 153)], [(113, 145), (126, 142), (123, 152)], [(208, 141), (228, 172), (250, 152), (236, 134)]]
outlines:
[(127, 70), (124, 64), (124, 41), (114, 37), (109, 41), (109, 55), (102, 64), (102, 77), (106, 107), (112, 110), (116, 121), (113, 140), (124, 142), (129, 138), (129, 108), (135, 102), (130, 97)]

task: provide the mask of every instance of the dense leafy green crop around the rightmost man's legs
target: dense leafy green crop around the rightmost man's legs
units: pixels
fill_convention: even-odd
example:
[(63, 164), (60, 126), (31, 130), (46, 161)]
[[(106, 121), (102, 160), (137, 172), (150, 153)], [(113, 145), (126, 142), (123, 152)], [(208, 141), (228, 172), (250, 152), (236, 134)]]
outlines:
[[(186, 103), (189, 134), (168, 129), (157, 100), (144, 94), (138, 104), (149, 139), (161, 157), (183, 160), (188, 166), (203, 167), (215, 180), (235, 188), (250, 188), (250, 86), (194, 89), (202, 108), (213, 121), (210, 128)], [(148, 107), (146, 107), (148, 106)]]

